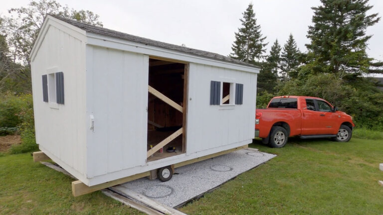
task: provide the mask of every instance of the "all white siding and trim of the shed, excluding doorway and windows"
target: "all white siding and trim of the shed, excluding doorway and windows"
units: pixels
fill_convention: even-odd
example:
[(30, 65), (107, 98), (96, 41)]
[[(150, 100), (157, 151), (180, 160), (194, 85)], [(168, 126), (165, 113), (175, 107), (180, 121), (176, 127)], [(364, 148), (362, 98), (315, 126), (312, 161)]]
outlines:
[[(39, 148), (93, 186), (251, 143), (259, 70), (206, 55), (92, 33), (47, 16), (31, 54)], [(186, 153), (151, 162), (149, 56), (189, 64)], [(63, 72), (64, 105), (43, 102), (42, 75), (55, 72)], [(210, 105), (210, 81), (243, 84), (243, 104)]]

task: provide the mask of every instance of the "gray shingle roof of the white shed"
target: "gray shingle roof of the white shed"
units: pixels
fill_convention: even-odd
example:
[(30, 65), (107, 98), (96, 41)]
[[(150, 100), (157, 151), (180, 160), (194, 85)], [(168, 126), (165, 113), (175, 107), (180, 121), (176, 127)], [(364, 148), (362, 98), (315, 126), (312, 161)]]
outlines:
[(160, 47), (160, 48), (171, 49), (174, 51), (179, 51), (179, 52), (184, 52), (184, 53), (188, 53), (188, 54), (192, 54), (192, 55), (198, 55), (198, 56), (202, 56), (202, 57), (212, 58), (215, 60), (226, 61), (226, 62), (230, 62), (230, 63), (250, 66), (250, 67), (254, 67), (254, 68), (259, 68), (257, 66), (252, 65), (252, 64), (245, 63), (245, 62), (239, 61), (239, 60), (235, 60), (235, 59), (232, 59), (232, 58), (220, 55), (220, 54), (215, 54), (212, 52), (202, 51), (202, 50), (198, 50), (198, 49), (192, 49), (192, 48), (179, 46), (179, 45), (173, 45), (170, 43), (151, 40), (151, 39), (147, 39), (144, 37), (134, 36), (134, 35), (127, 34), (127, 33), (122, 33), (119, 31), (110, 30), (107, 28), (97, 27), (94, 25), (74, 21), (72, 19), (63, 18), (63, 17), (57, 16), (57, 15), (52, 15), (52, 14), (48, 14), (48, 15), (53, 16), (57, 19), (60, 19), (60, 20), (66, 22), (66, 23), (69, 23), (71, 25), (74, 25), (78, 28), (81, 28), (87, 32), (92, 32), (92, 33), (101, 34), (101, 35), (105, 35), (105, 36), (116, 37), (116, 38), (120, 38), (120, 39), (124, 39), (124, 40), (129, 40), (132, 42), (142, 43), (145, 45), (151, 45), (151, 46), (156, 46), (156, 47)]

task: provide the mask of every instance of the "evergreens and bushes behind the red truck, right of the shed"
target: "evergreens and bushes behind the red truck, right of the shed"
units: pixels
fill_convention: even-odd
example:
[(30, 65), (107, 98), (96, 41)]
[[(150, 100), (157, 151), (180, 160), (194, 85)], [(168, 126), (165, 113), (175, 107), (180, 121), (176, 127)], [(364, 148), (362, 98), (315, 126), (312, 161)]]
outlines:
[(321, 0), (312, 7), (301, 52), (292, 34), (282, 46), (275, 40), (266, 54), (266, 36), (257, 24), (253, 5), (242, 13), (235, 32), (232, 58), (259, 66), (257, 108), (274, 96), (296, 95), (323, 98), (354, 117), (359, 127), (383, 130), (383, 92), (370, 74), (383, 74), (383, 62), (368, 56), (372, 35), (366, 29), (379, 22), (368, 0)]

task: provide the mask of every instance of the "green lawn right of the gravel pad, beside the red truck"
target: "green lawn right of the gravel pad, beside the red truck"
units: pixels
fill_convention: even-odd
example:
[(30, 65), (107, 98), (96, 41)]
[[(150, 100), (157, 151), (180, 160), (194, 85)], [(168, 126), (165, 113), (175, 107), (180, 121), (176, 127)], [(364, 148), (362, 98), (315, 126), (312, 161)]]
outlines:
[(187, 214), (382, 215), (383, 140), (289, 139), (278, 156), (182, 208)]

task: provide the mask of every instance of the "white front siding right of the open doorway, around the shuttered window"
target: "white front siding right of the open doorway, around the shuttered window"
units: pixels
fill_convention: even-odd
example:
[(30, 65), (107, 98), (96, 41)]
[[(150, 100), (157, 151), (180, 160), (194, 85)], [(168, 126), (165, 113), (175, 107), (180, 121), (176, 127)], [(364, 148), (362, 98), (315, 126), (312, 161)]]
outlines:
[[(243, 105), (209, 105), (210, 81), (243, 84)], [(190, 64), (186, 150), (188, 155), (237, 142), (252, 141), (256, 82), (255, 73)]]

